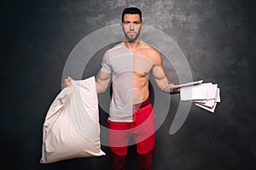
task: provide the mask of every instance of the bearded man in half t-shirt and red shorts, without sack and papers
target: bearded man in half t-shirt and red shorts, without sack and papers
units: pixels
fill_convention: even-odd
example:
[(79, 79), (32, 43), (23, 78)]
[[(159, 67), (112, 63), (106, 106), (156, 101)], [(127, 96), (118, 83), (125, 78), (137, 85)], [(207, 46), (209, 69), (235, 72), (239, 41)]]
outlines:
[[(159, 52), (139, 37), (143, 28), (141, 10), (125, 8), (120, 26), (125, 41), (104, 54), (96, 91), (97, 94), (106, 92), (112, 81), (113, 96), (108, 117), (112, 168), (125, 169), (127, 145), (133, 137), (137, 144), (138, 167), (148, 170), (152, 169), (155, 141), (154, 111), (148, 90), (149, 74), (163, 92), (176, 94), (179, 89), (172, 88), (173, 83), (168, 81)], [(64, 86), (71, 86), (71, 80), (71, 77), (67, 77)]]

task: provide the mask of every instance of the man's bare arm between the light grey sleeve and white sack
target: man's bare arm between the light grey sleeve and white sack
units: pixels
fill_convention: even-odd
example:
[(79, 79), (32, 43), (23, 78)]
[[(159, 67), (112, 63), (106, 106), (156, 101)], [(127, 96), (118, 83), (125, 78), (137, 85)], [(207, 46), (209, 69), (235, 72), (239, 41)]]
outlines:
[(97, 94), (106, 92), (108, 84), (111, 80), (111, 73), (100, 71), (96, 80)]

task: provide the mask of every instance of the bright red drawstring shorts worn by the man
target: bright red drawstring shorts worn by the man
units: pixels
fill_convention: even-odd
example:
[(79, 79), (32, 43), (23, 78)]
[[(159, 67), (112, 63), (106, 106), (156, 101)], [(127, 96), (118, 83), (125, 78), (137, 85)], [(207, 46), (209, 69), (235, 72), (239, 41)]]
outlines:
[(112, 122), (108, 119), (109, 149), (118, 156), (127, 155), (131, 136), (137, 144), (138, 154), (146, 154), (154, 149), (155, 116), (149, 99), (140, 107), (133, 106), (133, 109), (133, 122)]

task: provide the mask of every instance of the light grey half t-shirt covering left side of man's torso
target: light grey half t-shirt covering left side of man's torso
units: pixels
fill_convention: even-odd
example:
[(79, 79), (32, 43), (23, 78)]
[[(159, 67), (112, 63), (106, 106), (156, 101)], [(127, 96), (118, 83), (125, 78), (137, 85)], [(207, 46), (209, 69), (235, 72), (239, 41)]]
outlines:
[(121, 42), (103, 55), (103, 72), (112, 74), (109, 120), (132, 122), (133, 53)]

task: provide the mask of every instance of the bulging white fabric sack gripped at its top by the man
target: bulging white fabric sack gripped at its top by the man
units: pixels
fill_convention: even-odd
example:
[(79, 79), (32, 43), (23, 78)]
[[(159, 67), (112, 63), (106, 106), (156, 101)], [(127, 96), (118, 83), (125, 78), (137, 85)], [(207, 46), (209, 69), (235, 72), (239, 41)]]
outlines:
[(72, 81), (45, 117), (41, 163), (104, 156), (101, 150), (95, 77)]

